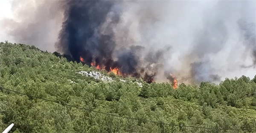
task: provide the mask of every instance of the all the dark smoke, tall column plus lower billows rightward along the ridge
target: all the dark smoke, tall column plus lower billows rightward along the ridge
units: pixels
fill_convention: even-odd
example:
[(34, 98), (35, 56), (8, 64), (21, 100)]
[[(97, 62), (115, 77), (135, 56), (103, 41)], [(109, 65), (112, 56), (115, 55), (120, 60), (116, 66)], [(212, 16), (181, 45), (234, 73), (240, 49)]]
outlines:
[(157, 64), (163, 53), (149, 52), (147, 55), (152, 56), (143, 57), (142, 53), (146, 53), (143, 46), (116, 43), (115, 30), (122, 15), (120, 3), (122, 1), (66, 0), (64, 22), (56, 45), (76, 62), (83, 58), (89, 66), (93, 62), (106, 71), (119, 68), (124, 75), (152, 82), (156, 69), (143, 68), (141, 64), (150, 57), (154, 59), (147, 61), (146, 67)]

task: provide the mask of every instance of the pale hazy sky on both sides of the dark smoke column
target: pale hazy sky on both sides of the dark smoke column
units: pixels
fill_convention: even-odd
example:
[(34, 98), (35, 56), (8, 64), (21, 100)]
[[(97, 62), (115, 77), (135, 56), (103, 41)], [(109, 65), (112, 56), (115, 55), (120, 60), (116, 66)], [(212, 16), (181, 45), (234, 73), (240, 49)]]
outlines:
[[(170, 46), (164, 69), (177, 77), (189, 73), (198, 80), (211, 80), (211, 75), (223, 80), (256, 74), (255, 67), (248, 67), (256, 44), (249, 44), (241, 30), (255, 27), (255, 0), (124, 0), (121, 7), (116, 43), (139, 44), (148, 51)], [(0, 41), (56, 51), (63, 12), (57, 0), (0, 0)], [(239, 20), (244, 22), (240, 28)]]

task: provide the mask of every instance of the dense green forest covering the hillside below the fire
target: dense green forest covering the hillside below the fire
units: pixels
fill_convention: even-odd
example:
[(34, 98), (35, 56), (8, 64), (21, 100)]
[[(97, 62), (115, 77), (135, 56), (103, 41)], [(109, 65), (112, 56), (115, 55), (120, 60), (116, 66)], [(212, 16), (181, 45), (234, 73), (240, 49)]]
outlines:
[(1, 42), (0, 86), (30, 96), (1, 89), (0, 131), (14, 123), (10, 133), (256, 133), (256, 76), (173, 89), (98, 71), (113, 79), (103, 82), (80, 71), (98, 70)]

